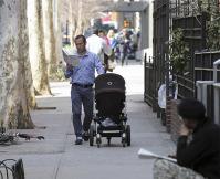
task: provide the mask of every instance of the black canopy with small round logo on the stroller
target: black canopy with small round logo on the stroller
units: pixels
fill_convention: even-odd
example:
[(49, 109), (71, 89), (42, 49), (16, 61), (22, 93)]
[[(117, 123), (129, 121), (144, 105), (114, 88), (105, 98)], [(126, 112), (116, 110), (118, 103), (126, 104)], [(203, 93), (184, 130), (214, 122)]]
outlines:
[(125, 80), (116, 73), (105, 73), (95, 78), (95, 95), (108, 92), (125, 94)]

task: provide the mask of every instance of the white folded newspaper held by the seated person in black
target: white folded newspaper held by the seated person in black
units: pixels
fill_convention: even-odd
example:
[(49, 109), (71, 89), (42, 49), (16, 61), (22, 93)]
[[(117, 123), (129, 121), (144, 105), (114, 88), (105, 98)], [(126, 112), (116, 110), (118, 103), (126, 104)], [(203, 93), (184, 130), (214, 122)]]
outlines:
[(144, 158), (144, 159), (160, 158), (160, 159), (169, 160), (169, 161), (172, 161), (172, 162), (177, 162), (177, 160), (174, 159), (174, 158), (166, 157), (166, 156), (160, 156), (160, 155), (154, 154), (154, 152), (151, 152), (149, 150), (146, 150), (144, 148), (140, 148), (138, 150), (138, 157), (139, 158)]

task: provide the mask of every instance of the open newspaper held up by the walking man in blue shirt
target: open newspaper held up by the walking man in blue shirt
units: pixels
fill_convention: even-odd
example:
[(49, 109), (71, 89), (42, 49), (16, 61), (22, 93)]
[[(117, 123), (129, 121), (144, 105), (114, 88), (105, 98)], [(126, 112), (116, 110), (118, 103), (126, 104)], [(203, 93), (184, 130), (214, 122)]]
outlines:
[(76, 55), (76, 52), (74, 51), (73, 48), (71, 46), (65, 46), (62, 49), (63, 52), (63, 59), (66, 64), (72, 65), (72, 66), (77, 66), (80, 63), (80, 59)]

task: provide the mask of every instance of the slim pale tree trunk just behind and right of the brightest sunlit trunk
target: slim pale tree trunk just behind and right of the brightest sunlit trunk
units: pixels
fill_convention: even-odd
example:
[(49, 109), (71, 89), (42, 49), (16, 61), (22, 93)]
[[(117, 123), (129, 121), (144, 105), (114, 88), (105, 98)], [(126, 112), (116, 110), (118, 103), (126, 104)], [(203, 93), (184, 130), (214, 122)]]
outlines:
[(57, 59), (55, 53), (55, 36), (53, 25), (53, 0), (42, 1), (43, 29), (45, 43), (45, 61), (48, 62), (49, 76), (55, 76), (57, 72)]

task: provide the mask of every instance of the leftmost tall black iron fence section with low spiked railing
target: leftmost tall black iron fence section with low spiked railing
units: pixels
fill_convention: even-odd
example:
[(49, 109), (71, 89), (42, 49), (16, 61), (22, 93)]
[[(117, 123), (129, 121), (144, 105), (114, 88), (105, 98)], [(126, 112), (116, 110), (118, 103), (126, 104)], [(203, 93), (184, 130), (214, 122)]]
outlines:
[[(145, 101), (158, 112), (157, 92), (165, 83), (166, 54), (169, 41), (169, 0), (154, 1), (153, 55), (145, 59)], [(159, 113), (158, 113), (159, 114)]]

